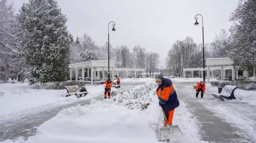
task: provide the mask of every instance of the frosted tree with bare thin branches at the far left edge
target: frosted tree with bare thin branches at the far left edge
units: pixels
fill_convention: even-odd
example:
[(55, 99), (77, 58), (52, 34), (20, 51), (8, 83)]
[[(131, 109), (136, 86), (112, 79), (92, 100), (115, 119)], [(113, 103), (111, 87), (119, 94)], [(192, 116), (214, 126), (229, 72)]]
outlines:
[[(16, 35), (15, 16), (13, 4), (8, 4), (7, 0), (0, 1), (0, 72), (3, 80), (7, 77), (8, 69), (14, 65), (16, 59)], [(1, 80), (1, 79), (0, 79)]]

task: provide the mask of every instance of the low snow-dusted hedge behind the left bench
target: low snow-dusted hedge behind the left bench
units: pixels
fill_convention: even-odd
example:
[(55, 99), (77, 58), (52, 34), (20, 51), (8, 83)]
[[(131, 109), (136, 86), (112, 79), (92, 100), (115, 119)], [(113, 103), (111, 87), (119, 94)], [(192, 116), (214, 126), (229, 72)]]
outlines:
[(82, 82), (48, 82), (44, 83), (43, 88), (44, 89), (65, 89), (65, 86), (72, 86), (72, 85), (78, 85), (79, 87), (85, 86)]

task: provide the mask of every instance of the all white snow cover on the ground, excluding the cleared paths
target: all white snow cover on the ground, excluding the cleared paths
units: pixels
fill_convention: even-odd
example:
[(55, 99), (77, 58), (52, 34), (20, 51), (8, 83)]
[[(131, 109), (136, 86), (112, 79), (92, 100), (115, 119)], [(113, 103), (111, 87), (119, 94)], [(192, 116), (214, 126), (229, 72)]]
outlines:
[[(171, 78), (175, 82), (182, 84), (196, 83), (201, 78)], [(43, 123), (37, 129), (37, 134), (24, 141), (22, 137), (17, 139), (17, 143), (70, 143), (70, 142), (92, 142), (92, 143), (155, 143), (157, 140), (157, 128), (163, 124), (163, 116), (158, 100), (154, 95), (156, 84), (153, 78), (121, 79), (121, 83), (146, 82), (146, 85), (136, 86), (126, 92), (121, 92), (113, 99), (103, 101), (91, 100), (89, 105), (73, 106), (62, 109), (52, 119)], [(122, 85), (122, 84), (121, 84)], [(15, 88), (16, 86), (16, 88)], [(89, 93), (86, 97), (77, 99), (76, 97), (64, 97), (65, 90), (43, 90), (34, 89), (28, 84), (0, 84), (0, 91), (4, 96), (0, 96), (0, 116), (7, 115), (14, 111), (40, 105), (93, 98), (96, 94), (101, 94), (103, 86), (86, 86)], [(122, 88), (122, 86), (121, 86)], [(16, 90), (14, 90), (16, 89)], [(205, 92), (216, 92), (217, 87), (207, 84)], [(115, 89), (118, 90), (118, 89)], [(16, 92), (15, 92), (16, 91)], [(195, 91), (191, 85), (179, 90), (181, 94), (195, 96)], [(193, 94), (193, 95), (192, 95)], [(244, 91), (237, 89), (235, 95), (238, 100), (219, 102), (212, 96), (205, 95), (202, 103), (214, 112), (216, 117), (221, 118), (232, 126), (244, 132), (245, 137), (256, 141), (255, 115), (247, 110), (248, 106), (256, 105), (256, 91)], [(199, 95), (200, 96), (200, 95)], [(48, 99), (47, 99), (48, 98)], [(115, 101), (114, 101), (115, 100)], [(146, 109), (145, 105), (149, 103)], [(237, 106), (237, 107), (236, 107)], [(144, 110), (142, 110), (142, 108)], [(205, 142), (201, 141), (200, 123), (191, 112), (188, 103), (180, 99), (180, 106), (175, 109), (173, 124), (178, 124), (184, 137), (175, 139), (177, 142)], [(241, 109), (238, 109), (241, 108)], [(250, 108), (253, 109), (253, 108)], [(242, 113), (248, 112), (248, 113)], [(200, 118), (200, 117), (198, 117)], [(240, 132), (241, 134), (241, 132)], [(13, 143), (12, 140), (5, 140), (3, 143)]]

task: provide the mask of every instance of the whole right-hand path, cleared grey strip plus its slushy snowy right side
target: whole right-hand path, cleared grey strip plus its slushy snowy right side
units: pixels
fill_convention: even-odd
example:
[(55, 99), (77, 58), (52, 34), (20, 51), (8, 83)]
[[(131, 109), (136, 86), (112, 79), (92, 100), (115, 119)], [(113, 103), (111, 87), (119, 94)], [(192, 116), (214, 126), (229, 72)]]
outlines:
[[(192, 87), (195, 84), (176, 82), (173, 84), (179, 93), (179, 99), (189, 106), (188, 108), (199, 121), (201, 140), (223, 143), (244, 143), (255, 140), (253, 135), (256, 125), (255, 106), (230, 101), (222, 102), (209, 95), (204, 95), (204, 99), (196, 99), (195, 89)], [(211, 93), (207, 89), (205, 92)], [(247, 127), (248, 124), (252, 125), (251, 129)]]

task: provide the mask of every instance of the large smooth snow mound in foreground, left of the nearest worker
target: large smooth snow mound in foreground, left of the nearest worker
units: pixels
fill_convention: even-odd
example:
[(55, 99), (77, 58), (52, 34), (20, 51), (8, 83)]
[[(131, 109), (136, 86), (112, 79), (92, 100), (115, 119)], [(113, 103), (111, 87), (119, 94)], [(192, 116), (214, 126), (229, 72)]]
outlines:
[[(157, 142), (156, 134), (149, 126), (151, 117), (140, 110), (91, 100), (90, 105), (61, 110), (55, 117), (43, 123), (37, 135), (17, 143), (142, 143)], [(157, 122), (157, 120), (156, 120)], [(4, 143), (12, 142), (10, 140)]]

